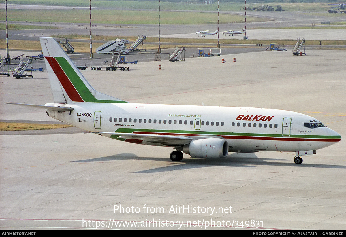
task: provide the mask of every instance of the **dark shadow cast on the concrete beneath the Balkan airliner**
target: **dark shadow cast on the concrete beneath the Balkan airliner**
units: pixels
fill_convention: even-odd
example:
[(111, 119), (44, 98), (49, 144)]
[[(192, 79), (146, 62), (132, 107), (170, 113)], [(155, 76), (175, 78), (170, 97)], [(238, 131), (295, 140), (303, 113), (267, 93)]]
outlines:
[[(137, 171), (135, 173), (156, 173), (166, 172), (173, 170), (184, 170), (201, 167), (223, 166), (223, 167), (248, 167), (254, 168), (257, 165), (270, 165), (270, 166), (286, 166), (286, 167), (314, 167), (314, 168), (334, 168), (334, 169), (346, 169), (346, 165), (328, 165), (328, 164), (313, 164), (302, 163), (300, 165), (292, 163), (280, 162), (289, 161), (288, 159), (274, 159), (274, 158), (258, 158), (254, 153), (242, 154), (229, 154), (224, 159), (192, 159), (186, 158), (182, 161), (173, 162), (167, 158), (152, 158), (152, 157), (138, 157), (135, 154), (123, 153), (117, 155), (111, 155), (108, 157), (98, 157), (86, 160), (76, 160), (73, 162), (98, 162), (98, 161), (117, 161), (117, 160), (151, 160), (151, 161), (163, 161), (169, 162), (169, 165), (164, 167), (155, 167), (153, 169)], [(277, 162), (276, 162), (277, 161)]]

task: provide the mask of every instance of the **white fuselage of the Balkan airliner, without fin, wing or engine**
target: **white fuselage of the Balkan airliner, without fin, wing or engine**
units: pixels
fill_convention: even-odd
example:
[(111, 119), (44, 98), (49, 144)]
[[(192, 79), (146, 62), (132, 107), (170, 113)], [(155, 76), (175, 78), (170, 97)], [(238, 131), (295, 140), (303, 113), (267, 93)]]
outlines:
[[(267, 108), (136, 103), (75, 103), (65, 106), (74, 110), (47, 112), (53, 118), (86, 131), (224, 138), (230, 152), (317, 150), (341, 139), (335, 138), (340, 135), (323, 125), (304, 126), (320, 124), (313, 117)], [(161, 146), (184, 145), (174, 141), (125, 141)]]

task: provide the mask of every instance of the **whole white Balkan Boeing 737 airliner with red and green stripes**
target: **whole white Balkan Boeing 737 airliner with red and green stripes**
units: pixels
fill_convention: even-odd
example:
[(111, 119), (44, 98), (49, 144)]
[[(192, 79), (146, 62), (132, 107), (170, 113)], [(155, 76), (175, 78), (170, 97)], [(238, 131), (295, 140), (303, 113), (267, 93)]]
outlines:
[[(48, 116), (125, 142), (170, 146), (172, 161), (226, 158), (228, 152), (315, 154), (341, 136), (308, 115), (268, 108), (128, 103), (95, 91), (53, 38), (40, 38), (54, 103)], [(14, 103), (11, 103), (14, 104)]]

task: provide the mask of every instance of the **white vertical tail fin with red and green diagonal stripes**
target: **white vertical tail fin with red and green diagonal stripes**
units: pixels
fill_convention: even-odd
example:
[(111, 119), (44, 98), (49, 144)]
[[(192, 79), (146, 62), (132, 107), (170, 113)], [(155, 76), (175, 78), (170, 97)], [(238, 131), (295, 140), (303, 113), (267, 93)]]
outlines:
[(54, 38), (40, 37), (40, 43), (55, 103), (127, 103), (95, 91)]

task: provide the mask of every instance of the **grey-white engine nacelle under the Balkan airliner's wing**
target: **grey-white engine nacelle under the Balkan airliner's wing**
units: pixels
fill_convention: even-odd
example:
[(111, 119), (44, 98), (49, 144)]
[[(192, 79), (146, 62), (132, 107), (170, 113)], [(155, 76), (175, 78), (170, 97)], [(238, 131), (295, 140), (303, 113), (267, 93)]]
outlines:
[(228, 142), (221, 138), (193, 140), (183, 146), (183, 152), (192, 158), (225, 158), (228, 155)]

